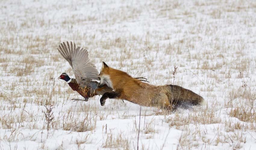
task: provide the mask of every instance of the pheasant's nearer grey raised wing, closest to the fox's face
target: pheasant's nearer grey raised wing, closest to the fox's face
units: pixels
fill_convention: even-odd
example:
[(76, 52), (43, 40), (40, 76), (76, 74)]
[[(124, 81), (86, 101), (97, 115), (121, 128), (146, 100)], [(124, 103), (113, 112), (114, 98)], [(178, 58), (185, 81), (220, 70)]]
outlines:
[(90, 81), (98, 80), (98, 70), (89, 61), (87, 49), (77, 47), (72, 53), (71, 59), (76, 81), (80, 86), (85, 87)]

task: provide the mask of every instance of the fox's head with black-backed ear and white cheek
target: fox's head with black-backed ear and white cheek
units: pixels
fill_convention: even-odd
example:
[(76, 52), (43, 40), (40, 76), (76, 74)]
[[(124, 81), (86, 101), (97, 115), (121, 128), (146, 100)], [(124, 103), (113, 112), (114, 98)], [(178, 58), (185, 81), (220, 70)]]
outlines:
[(99, 87), (102, 87), (103, 85), (107, 85), (108, 87), (114, 89), (113, 82), (111, 80), (111, 72), (113, 71), (113, 68), (108, 67), (108, 65), (102, 61), (102, 68), (101, 72), (99, 74), (100, 76), (100, 84)]

